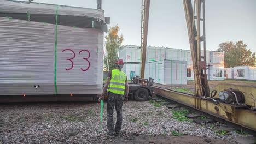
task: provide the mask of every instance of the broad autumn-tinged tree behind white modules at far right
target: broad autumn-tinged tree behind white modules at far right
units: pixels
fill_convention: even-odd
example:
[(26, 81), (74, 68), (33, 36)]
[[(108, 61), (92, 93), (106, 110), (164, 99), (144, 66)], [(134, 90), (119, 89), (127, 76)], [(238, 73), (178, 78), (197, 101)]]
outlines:
[(227, 41), (219, 44), (219, 52), (224, 52), (225, 68), (241, 65), (256, 65), (255, 52), (247, 50), (247, 45), (242, 40), (236, 43)]

